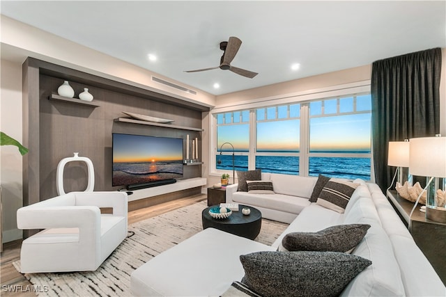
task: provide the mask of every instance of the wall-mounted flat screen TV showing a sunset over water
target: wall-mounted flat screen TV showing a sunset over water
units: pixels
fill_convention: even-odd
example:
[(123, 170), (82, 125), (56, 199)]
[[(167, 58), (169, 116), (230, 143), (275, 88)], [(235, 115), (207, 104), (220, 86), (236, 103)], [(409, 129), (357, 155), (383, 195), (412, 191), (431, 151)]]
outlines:
[(183, 139), (132, 134), (112, 136), (113, 186), (156, 184), (183, 177)]

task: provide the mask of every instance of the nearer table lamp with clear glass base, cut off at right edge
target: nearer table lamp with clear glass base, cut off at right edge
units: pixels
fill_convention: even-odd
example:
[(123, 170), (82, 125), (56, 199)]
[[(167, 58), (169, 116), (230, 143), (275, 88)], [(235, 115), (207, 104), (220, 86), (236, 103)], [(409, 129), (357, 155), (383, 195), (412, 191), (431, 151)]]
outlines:
[(446, 137), (411, 138), (409, 143), (409, 172), (426, 177), (426, 218), (446, 223), (446, 208), (442, 202), (445, 195), (442, 190), (445, 189), (446, 177)]

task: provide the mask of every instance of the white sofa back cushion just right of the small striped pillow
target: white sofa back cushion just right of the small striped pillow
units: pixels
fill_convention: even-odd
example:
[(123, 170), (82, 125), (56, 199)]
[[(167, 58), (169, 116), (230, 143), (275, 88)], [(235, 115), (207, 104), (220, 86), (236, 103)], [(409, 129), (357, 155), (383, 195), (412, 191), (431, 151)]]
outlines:
[(297, 175), (272, 174), (275, 193), (298, 196), (309, 199), (312, 195), (316, 177), (300, 177)]

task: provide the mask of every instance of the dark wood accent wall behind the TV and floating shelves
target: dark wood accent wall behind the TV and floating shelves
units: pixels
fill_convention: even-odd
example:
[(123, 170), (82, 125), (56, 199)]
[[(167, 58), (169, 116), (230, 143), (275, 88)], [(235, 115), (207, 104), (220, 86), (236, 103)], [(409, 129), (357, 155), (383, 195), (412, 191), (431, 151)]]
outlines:
[[(73, 156), (73, 152), (93, 162), (95, 191), (118, 189), (112, 186), (112, 132), (184, 139), (189, 134), (201, 143), (200, 131), (114, 122), (114, 119), (127, 116), (122, 111), (129, 111), (201, 129), (201, 113), (208, 111), (206, 106), (34, 58), (28, 58), (22, 70), (23, 140), (30, 149), (23, 162), (24, 205), (57, 195), (57, 165), (61, 159)], [(75, 97), (89, 88), (93, 102), (100, 106), (49, 100), (64, 80), (70, 82)], [(87, 175), (84, 163), (70, 162), (65, 169), (65, 191), (83, 191)], [(184, 178), (192, 177), (201, 177), (201, 166), (184, 166)]]

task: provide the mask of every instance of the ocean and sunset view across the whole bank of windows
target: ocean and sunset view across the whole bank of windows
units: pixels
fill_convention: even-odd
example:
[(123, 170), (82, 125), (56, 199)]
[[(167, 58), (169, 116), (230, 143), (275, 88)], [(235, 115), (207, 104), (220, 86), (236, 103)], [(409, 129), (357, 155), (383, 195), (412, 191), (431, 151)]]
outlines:
[(217, 113), (215, 119), (217, 170), (232, 170), (232, 155), (218, 150), (229, 142), (236, 170), (371, 179), (369, 94)]

